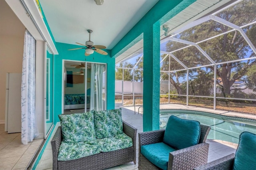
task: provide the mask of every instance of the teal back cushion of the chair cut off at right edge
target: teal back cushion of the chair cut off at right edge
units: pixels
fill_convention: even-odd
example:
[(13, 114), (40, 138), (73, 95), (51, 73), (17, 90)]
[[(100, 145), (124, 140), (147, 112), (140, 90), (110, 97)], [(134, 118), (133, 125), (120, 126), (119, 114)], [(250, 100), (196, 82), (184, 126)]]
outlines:
[(234, 170), (256, 170), (256, 134), (242, 132), (234, 159)]

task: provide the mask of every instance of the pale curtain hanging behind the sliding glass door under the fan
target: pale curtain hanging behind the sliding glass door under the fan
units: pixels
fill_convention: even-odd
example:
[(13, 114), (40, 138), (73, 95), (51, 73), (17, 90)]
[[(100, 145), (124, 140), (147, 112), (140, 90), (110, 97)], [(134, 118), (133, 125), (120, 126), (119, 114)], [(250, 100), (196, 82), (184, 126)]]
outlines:
[(102, 111), (105, 109), (104, 101), (102, 100), (103, 72), (105, 67), (105, 64), (92, 63), (90, 110)]

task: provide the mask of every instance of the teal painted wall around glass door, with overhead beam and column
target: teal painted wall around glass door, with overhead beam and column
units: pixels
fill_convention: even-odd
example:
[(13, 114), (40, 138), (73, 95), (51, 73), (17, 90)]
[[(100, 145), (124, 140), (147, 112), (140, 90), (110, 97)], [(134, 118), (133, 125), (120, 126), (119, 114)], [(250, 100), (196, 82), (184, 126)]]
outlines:
[[(196, 0), (159, 0), (159, 2), (118, 42), (110, 55), (102, 56), (97, 53), (86, 57), (86, 61), (107, 63), (107, 109), (114, 108), (114, 77), (115, 59), (144, 38), (144, 101), (143, 115), (144, 131), (159, 128), (159, 89), (160, 89), (160, 26)], [(44, 14), (43, 14), (44, 16)], [(50, 27), (44, 17), (46, 26)], [(52, 36), (52, 33), (50, 32)], [(54, 37), (52, 36), (54, 41)], [(79, 47), (54, 41), (59, 55), (54, 56), (54, 123), (58, 114), (62, 113), (62, 59), (84, 61), (84, 50), (67, 51)], [(146, 74), (145, 74), (146, 73)]]

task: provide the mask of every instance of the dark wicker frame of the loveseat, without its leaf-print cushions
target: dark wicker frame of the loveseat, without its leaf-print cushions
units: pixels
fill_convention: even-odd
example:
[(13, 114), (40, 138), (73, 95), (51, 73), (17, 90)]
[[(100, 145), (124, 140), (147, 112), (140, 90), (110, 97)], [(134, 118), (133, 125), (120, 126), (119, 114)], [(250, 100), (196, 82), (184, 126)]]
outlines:
[(137, 129), (123, 121), (124, 133), (132, 138), (133, 146), (112, 152), (100, 152), (76, 160), (58, 161), (58, 150), (62, 140), (61, 128), (58, 127), (52, 140), (52, 168), (76, 170), (103, 170), (120, 164), (134, 162), (136, 164), (136, 133)]

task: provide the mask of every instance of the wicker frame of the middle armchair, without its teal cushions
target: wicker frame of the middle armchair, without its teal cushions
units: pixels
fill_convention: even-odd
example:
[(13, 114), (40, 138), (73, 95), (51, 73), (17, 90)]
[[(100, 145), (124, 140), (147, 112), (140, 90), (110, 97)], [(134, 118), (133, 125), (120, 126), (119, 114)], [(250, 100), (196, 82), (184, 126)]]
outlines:
[[(210, 131), (210, 127), (200, 125), (201, 134), (198, 144), (170, 152), (168, 161), (168, 170), (190, 170), (194, 167), (207, 163), (209, 144), (206, 138)], [(150, 132), (139, 133), (139, 170), (158, 170), (159, 168), (152, 164), (140, 152), (140, 147), (146, 144), (163, 142), (165, 129), (154, 130)]]

